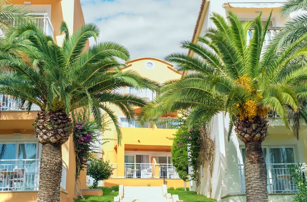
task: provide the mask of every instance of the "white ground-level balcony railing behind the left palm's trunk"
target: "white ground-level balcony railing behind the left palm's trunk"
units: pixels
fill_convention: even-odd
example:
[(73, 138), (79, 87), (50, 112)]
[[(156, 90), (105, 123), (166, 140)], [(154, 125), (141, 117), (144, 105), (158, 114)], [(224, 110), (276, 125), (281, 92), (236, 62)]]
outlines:
[[(1, 191), (37, 191), (39, 185), (39, 159), (0, 160)], [(67, 165), (63, 162), (61, 188), (66, 190)]]

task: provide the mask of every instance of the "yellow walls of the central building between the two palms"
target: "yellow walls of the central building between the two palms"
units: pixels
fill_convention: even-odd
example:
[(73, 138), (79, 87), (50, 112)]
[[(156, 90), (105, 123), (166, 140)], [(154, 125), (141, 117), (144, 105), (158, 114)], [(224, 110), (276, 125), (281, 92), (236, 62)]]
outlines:
[[(153, 69), (146, 68), (145, 64), (148, 61), (154, 64)], [(159, 83), (164, 83), (170, 79), (180, 79), (182, 76), (181, 72), (172, 68), (172, 64), (156, 58), (139, 58), (126, 64), (127, 67), (124, 68), (124, 71), (134, 70), (143, 77)], [(123, 116), (123, 113), (115, 106), (109, 107), (117, 116)], [(137, 110), (140, 111), (140, 109)], [(103, 137), (117, 139), (114, 124), (109, 125), (109, 128), (111, 128), (111, 131), (105, 131)], [(103, 145), (104, 159), (110, 163), (118, 164), (117, 176), (119, 177), (124, 176), (124, 155), (126, 151), (170, 152), (172, 141), (166, 137), (172, 137), (176, 133), (176, 130), (157, 128), (122, 128), (121, 130), (123, 134), (121, 145), (117, 145), (117, 141), (110, 141)], [(136, 182), (138, 180), (141, 179), (137, 179)]]

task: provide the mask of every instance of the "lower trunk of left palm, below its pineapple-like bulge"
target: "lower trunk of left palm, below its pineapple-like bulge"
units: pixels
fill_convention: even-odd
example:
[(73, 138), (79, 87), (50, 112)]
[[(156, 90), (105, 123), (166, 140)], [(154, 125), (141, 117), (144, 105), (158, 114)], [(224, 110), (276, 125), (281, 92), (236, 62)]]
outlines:
[(37, 202), (60, 202), (61, 176), (61, 143), (43, 144), (40, 157)]

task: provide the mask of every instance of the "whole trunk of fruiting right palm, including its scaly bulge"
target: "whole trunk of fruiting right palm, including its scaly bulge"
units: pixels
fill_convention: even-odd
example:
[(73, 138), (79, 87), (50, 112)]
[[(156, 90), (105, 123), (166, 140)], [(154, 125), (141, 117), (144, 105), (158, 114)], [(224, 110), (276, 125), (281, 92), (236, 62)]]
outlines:
[(245, 143), (245, 181), (246, 201), (269, 201), (267, 190), (267, 166), (262, 153), (261, 142), (268, 133), (268, 120), (266, 117), (255, 116), (252, 120), (248, 117), (233, 123), (238, 138)]

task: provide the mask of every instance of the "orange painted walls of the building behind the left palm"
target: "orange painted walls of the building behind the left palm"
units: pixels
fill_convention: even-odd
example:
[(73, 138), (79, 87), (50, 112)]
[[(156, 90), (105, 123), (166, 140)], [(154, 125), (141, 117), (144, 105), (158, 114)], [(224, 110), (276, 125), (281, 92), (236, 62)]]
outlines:
[[(25, 1), (13, 0), (12, 4), (24, 4)], [(85, 22), (79, 0), (31, 0), (32, 5), (51, 5), (51, 23), (54, 28), (54, 40), (60, 45), (63, 37), (60, 36), (60, 23), (67, 22), (69, 31), (79, 29)], [(0, 123), (0, 134), (33, 134), (33, 125), (37, 112), (2, 112)], [(3, 136), (8, 139), (8, 135)], [(14, 140), (15, 137), (10, 136)], [(2, 138), (2, 137), (0, 137)], [(34, 137), (31, 136), (30, 139)], [(27, 139), (27, 140), (30, 140)], [(25, 140), (25, 141), (27, 141)], [(73, 138), (62, 145), (62, 159), (67, 165), (66, 190), (68, 193), (61, 192), (61, 201), (73, 201), (75, 196), (75, 172), (76, 162), (74, 153)], [(86, 176), (85, 176), (86, 181)], [(0, 193), (1, 201), (36, 201), (37, 192), (9, 192)], [(2, 200), (5, 199), (5, 200)]]

